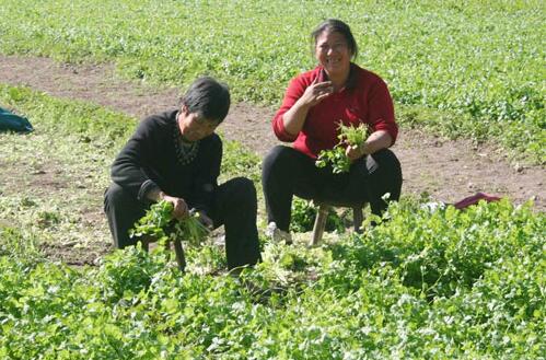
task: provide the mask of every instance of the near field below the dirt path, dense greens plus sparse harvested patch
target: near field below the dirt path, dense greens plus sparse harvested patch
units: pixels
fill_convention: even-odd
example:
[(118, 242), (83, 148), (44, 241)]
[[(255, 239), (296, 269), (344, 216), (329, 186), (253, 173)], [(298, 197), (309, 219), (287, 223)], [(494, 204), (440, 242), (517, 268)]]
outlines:
[[(0, 101), (36, 128), (0, 133), (1, 358), (545, 358), (546, 217), (531, 204), (405, 198), (388, 221), (320, 247), (309, 233), (262, 239), (264, 262), (240, 278), (212, 240), (186, 245), (182, 275), (161, 247), (107, 249), (102, 191), (135, 119), (22, 88), (0, 86)], [(257, 183), (258, 164), (226, 146), (225, 177)], [(55, 186), (34, 185), (50, 172)], [(70, 243), (111, 254), (73, 267), (44, 252)]]

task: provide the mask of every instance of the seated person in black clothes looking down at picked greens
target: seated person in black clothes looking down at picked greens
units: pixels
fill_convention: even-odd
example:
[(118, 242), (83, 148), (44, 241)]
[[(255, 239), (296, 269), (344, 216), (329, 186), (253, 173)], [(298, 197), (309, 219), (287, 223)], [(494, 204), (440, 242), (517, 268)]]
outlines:
[(173, 204), (177, 219), (190, 209), (206, 225), (225, 228), (230, 268), (260, 258), (254, 184), (244, 177), (218, 185), (222, 142), (214, 133), (230, 108), (228, 88), (212, 78), (196, 80), (179, 109), (142, 120), (112, 166), (104, 210), (116, 247), (135, 245), (135, 222), (151, 204)]

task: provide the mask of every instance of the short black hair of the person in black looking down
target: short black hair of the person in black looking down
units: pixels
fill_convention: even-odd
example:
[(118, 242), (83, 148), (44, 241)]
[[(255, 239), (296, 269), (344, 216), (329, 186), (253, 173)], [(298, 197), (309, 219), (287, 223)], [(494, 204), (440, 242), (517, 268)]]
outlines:
[(189, 114), (220, 124), (230, 111), (230, 90), (211, 77), (200, 77), (189, 85), (181, 103)]

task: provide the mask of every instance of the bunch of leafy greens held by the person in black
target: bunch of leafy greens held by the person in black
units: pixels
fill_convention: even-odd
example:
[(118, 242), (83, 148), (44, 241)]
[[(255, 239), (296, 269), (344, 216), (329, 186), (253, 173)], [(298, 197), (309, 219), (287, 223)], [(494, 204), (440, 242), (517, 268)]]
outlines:
[(176, 220), (173, 217), (173, 204), (162, 200), (153, 204), (131, 230), (131, 236), (150, 236), (158, 242), (181, 239), (198, 245), (207, 236), (209, 230), (201, 223), (198, 212)]

